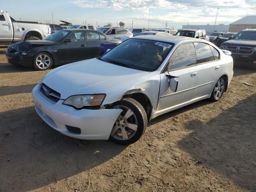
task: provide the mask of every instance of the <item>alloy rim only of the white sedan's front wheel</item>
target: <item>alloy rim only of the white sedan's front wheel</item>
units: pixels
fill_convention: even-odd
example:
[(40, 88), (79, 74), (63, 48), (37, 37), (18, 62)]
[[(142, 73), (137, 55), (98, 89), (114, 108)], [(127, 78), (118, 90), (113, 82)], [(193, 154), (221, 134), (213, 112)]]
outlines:
[(123, 111), (117, 117), (116, 122), (112, 128), (110, 135), (118, 140), (128, 140), (134, 136), (138, 128), (137, 118), (126, 106), (115, 106), (115, 108)]

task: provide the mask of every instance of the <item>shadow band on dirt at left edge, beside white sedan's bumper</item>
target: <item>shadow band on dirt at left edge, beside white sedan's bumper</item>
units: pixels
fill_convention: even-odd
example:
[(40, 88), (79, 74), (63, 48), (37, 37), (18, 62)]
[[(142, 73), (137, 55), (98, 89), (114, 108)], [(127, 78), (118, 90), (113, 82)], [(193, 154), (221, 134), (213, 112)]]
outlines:
[(20, 86), (3, 86), (0, 87), (0, 96), (19, 94), (19, 93), (31, 93), (36, 84), (27, 84)]

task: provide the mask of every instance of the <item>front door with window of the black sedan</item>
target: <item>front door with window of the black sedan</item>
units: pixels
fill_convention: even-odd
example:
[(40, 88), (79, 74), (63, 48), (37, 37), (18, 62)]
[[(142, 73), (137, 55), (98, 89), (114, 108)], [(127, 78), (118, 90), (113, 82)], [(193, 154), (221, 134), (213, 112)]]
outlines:
[(64, 63), (83, 60), (84, 55), (86, 55), (84, 31), (72, 32), (70, 35), (68, 35), (62, 41), (59, 54), (62, 56), (61, 62)]

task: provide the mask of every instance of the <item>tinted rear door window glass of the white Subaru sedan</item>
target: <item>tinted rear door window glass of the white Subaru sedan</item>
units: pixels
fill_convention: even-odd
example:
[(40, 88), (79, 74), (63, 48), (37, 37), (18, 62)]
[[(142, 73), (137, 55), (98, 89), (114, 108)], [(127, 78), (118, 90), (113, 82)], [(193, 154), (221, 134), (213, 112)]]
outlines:
[(210, 46), (208, 44), (196, 42), (195, 46), (198, 64), (214, 60), (212, 50), (210, 49)]

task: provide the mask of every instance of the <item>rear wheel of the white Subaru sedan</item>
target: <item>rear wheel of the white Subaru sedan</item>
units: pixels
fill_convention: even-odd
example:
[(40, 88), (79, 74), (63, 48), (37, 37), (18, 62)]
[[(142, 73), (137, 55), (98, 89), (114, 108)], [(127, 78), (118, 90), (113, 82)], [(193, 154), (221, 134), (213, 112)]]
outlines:
[(221, 76), (212, 90), (210, 100), (214, 102), (220, 100), (225, 92), (226, 83), (226, 78), (224, 76)]

